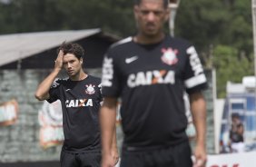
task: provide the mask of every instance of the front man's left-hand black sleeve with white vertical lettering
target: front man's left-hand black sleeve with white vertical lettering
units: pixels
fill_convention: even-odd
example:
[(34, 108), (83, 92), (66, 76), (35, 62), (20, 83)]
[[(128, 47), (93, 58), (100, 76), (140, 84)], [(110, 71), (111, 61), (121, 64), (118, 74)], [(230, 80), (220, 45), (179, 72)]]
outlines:
[(113, 52), (109, 50), (103, 59), (102, 93), (103, 97), (118, 97), (120, 95), (120, 77), (115, 64)]

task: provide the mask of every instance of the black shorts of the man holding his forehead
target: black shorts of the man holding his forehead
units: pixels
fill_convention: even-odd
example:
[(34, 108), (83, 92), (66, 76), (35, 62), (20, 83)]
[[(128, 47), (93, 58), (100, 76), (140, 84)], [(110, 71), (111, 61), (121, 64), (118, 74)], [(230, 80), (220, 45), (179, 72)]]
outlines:
[(101, 152), (61, 152), (61, 167), (100, 167)]

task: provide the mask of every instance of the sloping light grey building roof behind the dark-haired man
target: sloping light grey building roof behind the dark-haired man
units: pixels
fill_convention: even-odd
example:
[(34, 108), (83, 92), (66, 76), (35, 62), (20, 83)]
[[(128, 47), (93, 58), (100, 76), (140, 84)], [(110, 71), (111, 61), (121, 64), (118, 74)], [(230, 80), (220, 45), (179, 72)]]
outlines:
[(101, 33), (101, 29), (0, 35), (0, 66), (25, 59), (66, 42)]

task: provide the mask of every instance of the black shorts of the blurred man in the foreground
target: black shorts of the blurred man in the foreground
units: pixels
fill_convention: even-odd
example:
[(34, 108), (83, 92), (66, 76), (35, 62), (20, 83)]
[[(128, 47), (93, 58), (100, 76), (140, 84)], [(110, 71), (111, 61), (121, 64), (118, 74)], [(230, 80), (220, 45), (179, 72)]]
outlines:
[(189, 142), (150, 151), (123, 148), (120, 167), (192, 167)]

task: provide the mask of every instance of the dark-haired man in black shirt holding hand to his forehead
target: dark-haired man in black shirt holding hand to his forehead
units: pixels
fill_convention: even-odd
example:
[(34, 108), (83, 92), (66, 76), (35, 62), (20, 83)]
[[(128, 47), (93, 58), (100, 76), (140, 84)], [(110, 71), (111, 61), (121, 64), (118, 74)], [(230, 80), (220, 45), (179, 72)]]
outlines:
[[(60, 100), (63, 109), (64, 145), (62, 167), (99, 167), (101, 137), (99, 108), (103, 101), (101, 80), (83, 70), (84, 48), (79, 44), (64, 43), (58, 48), (54, 71), (39, 84), (35, 97), (53, 103)], [(67, 79), (56, 79), (64, 70)], [(112, 158), (118, 159), (115, 133)]]

